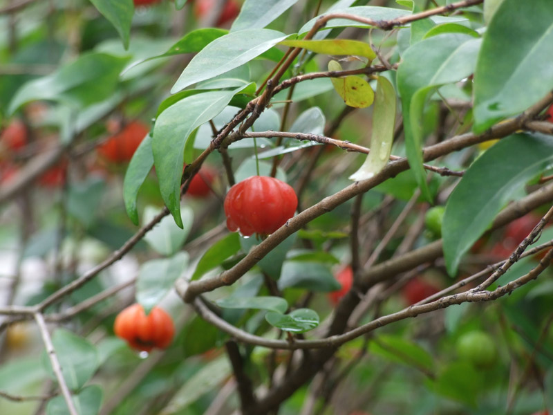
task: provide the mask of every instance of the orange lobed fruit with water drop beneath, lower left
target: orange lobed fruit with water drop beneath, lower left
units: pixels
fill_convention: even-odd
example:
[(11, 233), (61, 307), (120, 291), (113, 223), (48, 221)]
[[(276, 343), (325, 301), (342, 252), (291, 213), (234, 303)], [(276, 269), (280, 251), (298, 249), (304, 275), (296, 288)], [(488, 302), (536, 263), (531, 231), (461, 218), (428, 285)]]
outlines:
[(137, 303), (115, 317), (113, 331), (133, 349), (151, 351), (154, 347), (165, 349), (171, 344), (175, 326), (171, 316), (162, 308), (153, 307), (146, 315), (144, 308)]

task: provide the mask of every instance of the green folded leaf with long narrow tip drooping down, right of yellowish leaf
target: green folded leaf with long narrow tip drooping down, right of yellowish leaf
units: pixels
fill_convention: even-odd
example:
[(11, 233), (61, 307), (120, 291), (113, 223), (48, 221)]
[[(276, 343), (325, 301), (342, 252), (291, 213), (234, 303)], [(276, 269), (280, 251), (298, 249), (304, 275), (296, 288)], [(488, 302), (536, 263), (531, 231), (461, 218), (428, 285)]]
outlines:
[[(431, 196), (427, 186), (427, 174), (422, 167), (420, 131), (424, 101), (432, 86), (455, 82), (470, 75), (474, 68), (474, 59), (470, 58), (476, 56), (478, 42), (478, 39), (469, 35), (458, 34), (424, 39), (405, 51), (402, 64), (397, 70), (397, 89), (402, 98), (407, 158), (423, 196), (429, 201)], [(411, 114), (413, 109), (417, 113)]]

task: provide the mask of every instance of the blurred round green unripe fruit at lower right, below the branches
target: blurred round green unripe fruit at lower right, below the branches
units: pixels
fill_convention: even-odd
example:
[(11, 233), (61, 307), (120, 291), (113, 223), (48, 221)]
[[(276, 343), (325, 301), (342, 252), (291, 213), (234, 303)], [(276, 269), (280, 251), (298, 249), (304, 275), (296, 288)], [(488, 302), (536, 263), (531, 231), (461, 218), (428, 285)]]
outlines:
[(486, 369), (494, 365), (496, 344), (487, 333), (470, 331), (459, 338), (457, 354), (460, 359), (471, 362), (475, 367)]

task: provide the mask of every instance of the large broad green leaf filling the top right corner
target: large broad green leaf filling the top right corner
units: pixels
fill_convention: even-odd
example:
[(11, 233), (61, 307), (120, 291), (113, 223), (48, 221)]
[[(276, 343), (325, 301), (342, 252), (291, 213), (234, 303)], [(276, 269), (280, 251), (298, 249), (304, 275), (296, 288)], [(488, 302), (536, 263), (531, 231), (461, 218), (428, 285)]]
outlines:
[(474, 73), (474, 131), (520, 113), (553, 89), (553, 3), (505, 0), (484, 34)]

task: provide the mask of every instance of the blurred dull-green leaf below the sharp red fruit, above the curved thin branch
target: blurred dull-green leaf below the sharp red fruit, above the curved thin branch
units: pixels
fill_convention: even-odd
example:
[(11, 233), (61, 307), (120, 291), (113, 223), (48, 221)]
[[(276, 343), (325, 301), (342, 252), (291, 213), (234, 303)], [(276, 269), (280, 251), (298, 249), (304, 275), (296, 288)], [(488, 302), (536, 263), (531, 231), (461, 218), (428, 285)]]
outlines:
[(279, 290), (292, 287), (330, 293), (339, 290), (341, 285), (320, 262), (285, 261), (279, 279)]

